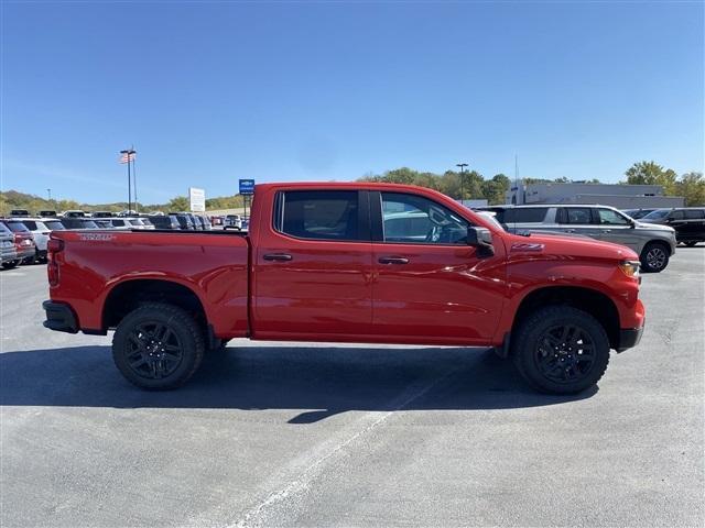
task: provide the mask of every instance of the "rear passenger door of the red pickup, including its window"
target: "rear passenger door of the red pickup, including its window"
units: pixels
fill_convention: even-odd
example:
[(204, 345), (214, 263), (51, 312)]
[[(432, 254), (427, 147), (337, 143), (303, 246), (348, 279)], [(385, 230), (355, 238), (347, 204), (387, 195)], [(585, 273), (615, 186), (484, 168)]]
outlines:
[(253, 331), (260, 339), (371, 333), (369, 200), (357, 189), (292, 189), (260, 219)]

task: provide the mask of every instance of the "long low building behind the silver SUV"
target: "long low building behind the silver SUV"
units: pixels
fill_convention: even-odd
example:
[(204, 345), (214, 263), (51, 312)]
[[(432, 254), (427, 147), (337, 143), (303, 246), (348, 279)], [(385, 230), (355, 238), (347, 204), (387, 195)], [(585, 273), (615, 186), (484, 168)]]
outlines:
[(622, 184), (523, 184), (512, 186), (506, 202), (530, 204), (599, 204), (618, 209), (683, 207), (682, 196), (663, 196), (660, 185)]

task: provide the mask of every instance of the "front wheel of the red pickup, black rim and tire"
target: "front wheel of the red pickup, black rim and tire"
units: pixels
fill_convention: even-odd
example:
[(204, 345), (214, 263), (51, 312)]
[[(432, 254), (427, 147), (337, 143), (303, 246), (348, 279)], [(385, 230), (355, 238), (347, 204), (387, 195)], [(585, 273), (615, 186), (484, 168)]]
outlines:
[(576, 394), (605, 374), (609, 340), (589, 314), (571, 306), (550, 306), (520, 323), (512, 336), (512, 359), (535, 389)]

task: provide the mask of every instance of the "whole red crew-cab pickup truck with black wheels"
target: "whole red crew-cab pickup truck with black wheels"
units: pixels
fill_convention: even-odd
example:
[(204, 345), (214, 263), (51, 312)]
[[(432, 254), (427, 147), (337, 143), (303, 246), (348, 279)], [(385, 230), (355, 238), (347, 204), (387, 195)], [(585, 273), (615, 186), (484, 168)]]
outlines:
[(628, 248), (506, 232), (424, 188), (268, 184), (248, 234), (54, 231), (52, 330), (106, 334), (148, 389), (232, 338), (492, 346), (535, 388), (576, 393), (643, 331)]

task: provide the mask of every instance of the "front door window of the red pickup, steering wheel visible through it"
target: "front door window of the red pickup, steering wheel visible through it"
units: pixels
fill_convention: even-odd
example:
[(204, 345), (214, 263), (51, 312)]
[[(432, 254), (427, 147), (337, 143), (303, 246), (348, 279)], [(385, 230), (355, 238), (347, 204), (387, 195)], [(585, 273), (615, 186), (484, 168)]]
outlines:
[(468, 223), (427, 198), (382, 193), (384, 242), (465, 244)]

